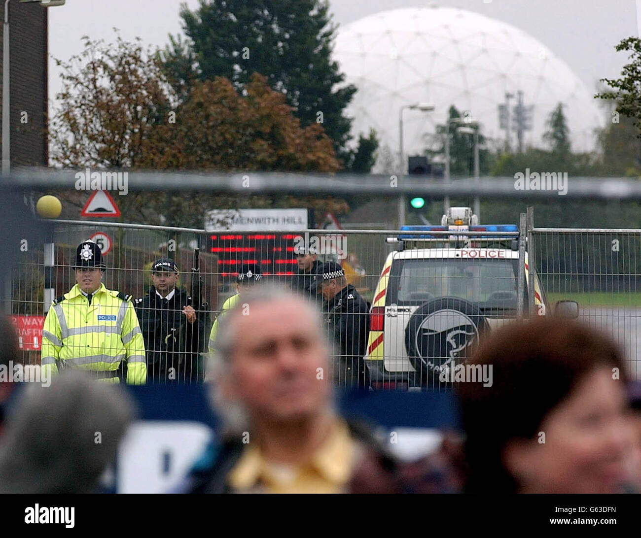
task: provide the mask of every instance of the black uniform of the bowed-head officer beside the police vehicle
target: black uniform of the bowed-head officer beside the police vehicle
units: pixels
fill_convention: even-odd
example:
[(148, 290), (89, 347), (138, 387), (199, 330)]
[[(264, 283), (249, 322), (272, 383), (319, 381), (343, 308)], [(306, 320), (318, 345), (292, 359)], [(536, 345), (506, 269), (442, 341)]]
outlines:
[(333, 375), (340, 386), (364, 387), (365, 352), (369, 336), (369, 304), (347, 284), (323, 309), (324, 321), (340, 348)]

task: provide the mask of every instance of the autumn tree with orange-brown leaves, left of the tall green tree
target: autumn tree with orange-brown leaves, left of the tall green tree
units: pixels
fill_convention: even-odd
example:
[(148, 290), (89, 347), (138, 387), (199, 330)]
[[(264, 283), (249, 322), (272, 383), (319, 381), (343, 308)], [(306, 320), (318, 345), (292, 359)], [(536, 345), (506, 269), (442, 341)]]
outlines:
[[(140, 40), (115, 44), (84, 38), (83, 53), (62, 67), (63, 89), (50, 121), (51, 159), (64, 168), (336, 172), (322, 125), (301, 127), (285, 95), (254, 74), (239, 94), (228, 79), (194, 84), (179, 99), (158, 54)], [(304, 181), (304, 177), (301, 177)], [(60, 193), (81, 206), (78, 193)], [(124, 200), (123, 200), (124, 199)], [(215, 208), (292, 207), (343, 213), (344, 200), (192, 193), (119, 197), (122, 220), (202, 227)], [(164, 218), (161, 218), (161, 215)]]

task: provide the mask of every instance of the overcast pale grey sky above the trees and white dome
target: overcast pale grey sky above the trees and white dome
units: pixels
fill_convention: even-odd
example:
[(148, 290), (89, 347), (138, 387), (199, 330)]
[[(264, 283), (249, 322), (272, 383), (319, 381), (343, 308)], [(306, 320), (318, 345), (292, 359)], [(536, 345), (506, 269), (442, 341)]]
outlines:
[[(190, 8), (198, 0), (187, 0)], [(617, 77), (626, 56), (614, 45), (639, 35), (641, 0), (331, 0), (334, 19), (349, 24), (383, 10), (437, 4), (462, 8), (517, 26), (543, 42), (594, 90), (601, 77)], [(180, 0), (67, 0), (49, 8), (49, 53), (69, 59), (82, 50), (80, 38), (113, 40), (113, 27), (127, 40), (162, 47), (168, 33), (181, 31)], [(49, 96), (60, 91), (59, 71), (49, 62)]]

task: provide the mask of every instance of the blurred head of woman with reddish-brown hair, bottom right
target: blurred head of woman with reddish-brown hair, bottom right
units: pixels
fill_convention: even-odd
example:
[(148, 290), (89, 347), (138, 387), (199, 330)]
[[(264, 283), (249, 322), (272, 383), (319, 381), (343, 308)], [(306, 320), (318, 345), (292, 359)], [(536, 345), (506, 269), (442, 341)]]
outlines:
[(629, 478), (632, 432), (617, 346), (576, 322), (492, 332), (471, 362), (491, 387), (458, 384), (469, 491), (608, 493)]

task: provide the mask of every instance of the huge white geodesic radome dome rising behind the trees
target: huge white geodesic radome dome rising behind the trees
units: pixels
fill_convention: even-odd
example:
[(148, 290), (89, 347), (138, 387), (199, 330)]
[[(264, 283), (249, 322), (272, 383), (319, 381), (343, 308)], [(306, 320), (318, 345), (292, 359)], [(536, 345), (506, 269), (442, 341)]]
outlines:
[[(347, 108), (354, 118), (352, 134), (376, 129), (398, 162), (399, 109), (431, 102), (432, 112), (406, 110), (404, 153), (419, 154), (428, 146), (424, 135), (444, 124), (449, 106), (469, 111), (483, 135), (505, 139), (498, 105), (506, 92), (519, 90), (533, 105), (532, 130), (524, 145), (545, 147), (542, 135), (549, 113), (562, 102), (572, 151), (594, 149), (594, 129), (603, 124), (597, 100), (570, 68), (545, 45), (499, 20), (456, 8), (390, 10), (369, 15), (339, 29), (333, 57), (345, 83), (358, 92)], [(515, 149), (516, 133), (510, 134)], [(381, 158), (376, 168), (380, 170)]]

